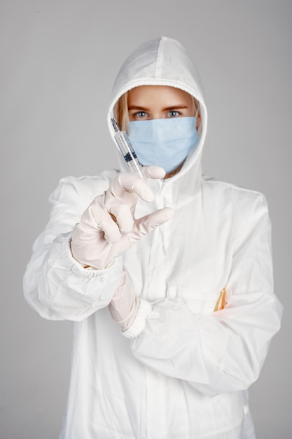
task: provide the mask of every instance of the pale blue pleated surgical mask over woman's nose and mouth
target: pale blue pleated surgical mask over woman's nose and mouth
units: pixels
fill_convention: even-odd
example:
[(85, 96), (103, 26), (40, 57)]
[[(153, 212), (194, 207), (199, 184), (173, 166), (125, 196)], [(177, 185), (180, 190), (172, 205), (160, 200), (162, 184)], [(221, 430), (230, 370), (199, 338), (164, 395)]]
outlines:
[(130, 121), (128, 136), (142, 165), (179, 167), (197, 145), (196, 117)]

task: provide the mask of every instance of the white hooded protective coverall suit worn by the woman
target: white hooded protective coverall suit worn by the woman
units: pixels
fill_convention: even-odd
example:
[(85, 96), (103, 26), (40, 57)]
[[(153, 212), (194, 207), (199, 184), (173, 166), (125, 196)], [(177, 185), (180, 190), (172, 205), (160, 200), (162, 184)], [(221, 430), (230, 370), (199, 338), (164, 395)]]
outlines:
[[(25, 297), (44, 318), (74, 321), (60, 438), (252, 439), (246, 389), (258, 378), (281, 317), (267, 203), (256, 191), (202, 177), (207, 110), (177, 41), (148, 41), (127, 59), (111, 109), (140, 85), (174, 86), (195, 96), (200, 144), (174, 177), (149, 182), (159, 207), (174, 208), (174, 217), (109, 269), (84, 269), (71, 256), (69, 240), (118, 171), (64, 178), (50, 196), (50, 221), (34, 243)], [(109, 127), (112, 133), (110, 121)], [(137, 217), (146, 213), (145, 202), (138, 202)], [(141, 298), (125, 332), (107, 306), (123, 269)], [(214, 312), (224, 287), (225, 308)]]

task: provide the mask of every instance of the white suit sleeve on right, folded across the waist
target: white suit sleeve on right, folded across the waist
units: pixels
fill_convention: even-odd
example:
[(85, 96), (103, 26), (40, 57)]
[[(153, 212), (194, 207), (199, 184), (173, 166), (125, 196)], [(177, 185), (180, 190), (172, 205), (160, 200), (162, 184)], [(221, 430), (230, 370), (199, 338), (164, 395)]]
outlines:
[(247, 389), (256, 381), (279, 330), (270, 219), (263, 196), (254, 204), (235, 238), (224, 309), (199, 314), (177, 299), (141, 300), (137, 318), (124, 333), (141, 363), (186, 380), (208, 396)]

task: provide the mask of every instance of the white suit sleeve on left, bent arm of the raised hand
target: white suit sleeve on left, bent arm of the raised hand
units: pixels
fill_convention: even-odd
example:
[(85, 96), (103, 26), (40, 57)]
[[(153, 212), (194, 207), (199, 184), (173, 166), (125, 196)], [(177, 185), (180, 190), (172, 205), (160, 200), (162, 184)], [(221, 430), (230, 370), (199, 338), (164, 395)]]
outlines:
[(50, 196), (50, 220), (34, 243), (24, 276), (25, 298), (43, 318), (83, 320), (107, 306), (118, 287), (120, 259), (108, 269), (84, 269), (70, 250), (74, 225), (108, 184), (97, 177), (92, 187), (90, 179), (67, 177)]

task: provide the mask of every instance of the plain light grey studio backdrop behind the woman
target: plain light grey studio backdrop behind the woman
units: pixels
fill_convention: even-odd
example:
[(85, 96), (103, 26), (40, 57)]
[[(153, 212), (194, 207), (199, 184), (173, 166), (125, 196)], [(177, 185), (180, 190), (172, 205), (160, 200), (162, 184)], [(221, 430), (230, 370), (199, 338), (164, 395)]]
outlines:
[(60, 431), (72, 326), (29, 308), (22, 275), (60, 178), (117, 165), (98, 88), (109, 100), (128, 53), (162, 34), (186, 46), (202, 76), (204, 173), (270, 204), (286, 311), (251, 409), (258, 439), (292, 437), (291, 15), (284, 0), (1, 0), (1, 438)]

